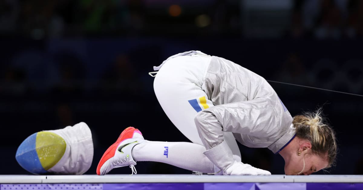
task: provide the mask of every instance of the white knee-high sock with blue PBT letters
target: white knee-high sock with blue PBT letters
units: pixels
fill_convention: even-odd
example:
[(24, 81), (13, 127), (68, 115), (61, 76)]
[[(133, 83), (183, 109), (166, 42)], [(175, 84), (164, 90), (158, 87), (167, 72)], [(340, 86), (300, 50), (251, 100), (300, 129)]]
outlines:
[(203, 154), (204, 146), (187, 142), (148, 141), (132, 149), (135, 161), (155, 161), (179, 168), (213, 173), (214, 164)]

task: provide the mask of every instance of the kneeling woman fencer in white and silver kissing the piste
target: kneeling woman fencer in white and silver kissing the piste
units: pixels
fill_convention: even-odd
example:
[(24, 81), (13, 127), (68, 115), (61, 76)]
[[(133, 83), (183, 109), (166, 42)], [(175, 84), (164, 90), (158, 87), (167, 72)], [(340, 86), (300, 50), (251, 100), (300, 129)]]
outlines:
[(192, 143), (148, 141), (128, 127), (102, 156), (98, 175), (122, 166), (136, 173), (136, 161), (202, 173), (270, 175), (241, 162), (236, 140), (280, 154), (287, 175), (309, 175), (334, 164), (335, 132), (323, 122), (321, 109), (291, 117), (274, 89), (256, 73), (200, 51), (173, 55), (154, 70), (156, 98)]

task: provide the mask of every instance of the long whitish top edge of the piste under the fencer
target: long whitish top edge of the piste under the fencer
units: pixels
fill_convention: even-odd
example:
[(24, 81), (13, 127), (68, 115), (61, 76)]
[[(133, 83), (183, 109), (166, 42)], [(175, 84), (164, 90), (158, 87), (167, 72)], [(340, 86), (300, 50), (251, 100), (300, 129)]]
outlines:
[(357, 175), (208, 176), (193, 174), (0, 175), (0, 183), (363, 183)]

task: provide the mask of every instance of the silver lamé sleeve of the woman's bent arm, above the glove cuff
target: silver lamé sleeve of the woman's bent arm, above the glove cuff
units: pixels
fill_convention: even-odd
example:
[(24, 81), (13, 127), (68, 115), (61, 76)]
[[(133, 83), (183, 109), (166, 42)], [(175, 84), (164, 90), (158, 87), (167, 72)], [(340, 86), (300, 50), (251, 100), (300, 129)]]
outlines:
[(217, 105), (200, 111), (194, 121), (205, 148), (223, 142), (223, 131), (264, 137), (276, 126), (274, 111), (261, 100)]

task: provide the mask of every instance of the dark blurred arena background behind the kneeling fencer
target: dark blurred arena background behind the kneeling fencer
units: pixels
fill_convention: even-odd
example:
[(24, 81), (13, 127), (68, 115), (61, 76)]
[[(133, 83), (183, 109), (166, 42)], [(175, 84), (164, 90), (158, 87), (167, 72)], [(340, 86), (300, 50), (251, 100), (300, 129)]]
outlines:
[[(188, 141), (148, 75), (188, 50), (267, 80), (363, 94), (362, 37), (360, 0), (0, 0), (0, 174), (29, 174), (15, 152), (30, 134), (81, 121), (95, 149), (86, 174), (128, 126), (147, 140)], [(270, 84), (292, 115), (323, 106), (340, 149), (331, 174), (363, 174), (362, 97)], [(284, 174), (281, 156), (240, 148), (242, 161)], [(191, 173), (157, 162), (136, 168)]]

